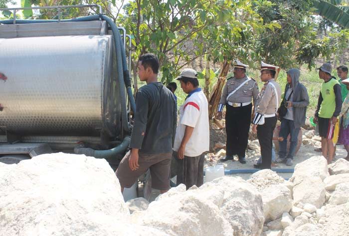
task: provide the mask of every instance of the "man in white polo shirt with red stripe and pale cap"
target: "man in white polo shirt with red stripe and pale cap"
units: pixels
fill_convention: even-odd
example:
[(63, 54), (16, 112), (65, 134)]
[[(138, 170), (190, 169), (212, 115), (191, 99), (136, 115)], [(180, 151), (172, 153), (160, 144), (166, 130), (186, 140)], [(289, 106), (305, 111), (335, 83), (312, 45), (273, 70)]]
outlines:
[(208, 102), (198, 87), (195, 70), (184, 69), (177, 80), (188, 95), (179, 108), (173, 161), (177, 166), (177, 185), (185, 184), (188, 189), (203, 184), (203, 153), (209, 150)]

